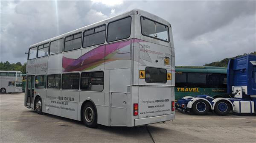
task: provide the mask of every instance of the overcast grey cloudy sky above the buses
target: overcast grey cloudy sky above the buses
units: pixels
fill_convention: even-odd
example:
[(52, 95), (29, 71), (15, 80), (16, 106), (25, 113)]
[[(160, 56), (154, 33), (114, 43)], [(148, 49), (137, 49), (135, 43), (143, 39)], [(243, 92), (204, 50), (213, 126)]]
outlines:
[(251, 1), (1, 1), (0, 61), (26, 62), (30, 45), (139, 8), (172, 25), (175, 64), (203, 65), (256, 51)]

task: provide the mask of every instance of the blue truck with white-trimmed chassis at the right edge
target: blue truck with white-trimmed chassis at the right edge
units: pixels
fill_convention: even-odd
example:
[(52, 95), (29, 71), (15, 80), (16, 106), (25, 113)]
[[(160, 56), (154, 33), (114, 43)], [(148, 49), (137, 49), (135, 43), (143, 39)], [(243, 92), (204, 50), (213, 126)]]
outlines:
[(182, 112), (206, 115), (255, 114), (256, 110), (256, 55), (230, 59), (227, 67), (227, 92), (233, 98), (212, 98), (208, 95), (186, 96), (175, 103)]

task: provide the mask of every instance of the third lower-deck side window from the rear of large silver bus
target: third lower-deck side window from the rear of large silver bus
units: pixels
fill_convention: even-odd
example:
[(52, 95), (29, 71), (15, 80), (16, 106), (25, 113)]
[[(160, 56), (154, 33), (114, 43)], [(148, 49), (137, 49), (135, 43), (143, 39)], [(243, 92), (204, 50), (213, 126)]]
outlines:
[(61, 74), (48, 75), (47, 88), (61, 89)]

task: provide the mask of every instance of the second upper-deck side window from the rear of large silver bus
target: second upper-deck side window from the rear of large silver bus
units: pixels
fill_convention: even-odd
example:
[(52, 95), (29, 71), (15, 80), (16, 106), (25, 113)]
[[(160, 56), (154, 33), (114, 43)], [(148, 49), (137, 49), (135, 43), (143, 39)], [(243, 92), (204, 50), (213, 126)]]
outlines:
[(84, 31), (83, 48), (105, 42), (106, 25)]

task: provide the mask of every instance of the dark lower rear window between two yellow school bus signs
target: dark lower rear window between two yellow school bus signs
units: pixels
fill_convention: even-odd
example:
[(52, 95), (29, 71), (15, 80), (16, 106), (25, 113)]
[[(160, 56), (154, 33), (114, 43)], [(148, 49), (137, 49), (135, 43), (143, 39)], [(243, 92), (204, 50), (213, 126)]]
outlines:
[(167, 71), (161, 68), (146, 67), (145, 80), (148, 83), (166, 83)]

